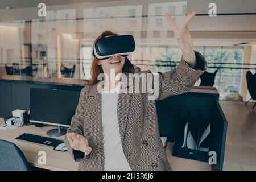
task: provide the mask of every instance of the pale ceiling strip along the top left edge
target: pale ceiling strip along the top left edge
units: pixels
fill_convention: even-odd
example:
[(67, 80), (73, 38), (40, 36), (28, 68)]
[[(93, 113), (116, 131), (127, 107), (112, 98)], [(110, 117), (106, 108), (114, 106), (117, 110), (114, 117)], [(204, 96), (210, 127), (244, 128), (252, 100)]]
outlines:
[[(0, 9), (6, 9), (6, 6), (11, 9), (24, 8), (24, 7), (37, 7), (39, 3), (46, 3), (48, 6), (52, 5), (68, 5), (75, 3), (86, 2), (105, 2), (105, 1), (118, 1), (118, 0), (1, 0)], [(120, 0), (119, 0), (120, 1)]]

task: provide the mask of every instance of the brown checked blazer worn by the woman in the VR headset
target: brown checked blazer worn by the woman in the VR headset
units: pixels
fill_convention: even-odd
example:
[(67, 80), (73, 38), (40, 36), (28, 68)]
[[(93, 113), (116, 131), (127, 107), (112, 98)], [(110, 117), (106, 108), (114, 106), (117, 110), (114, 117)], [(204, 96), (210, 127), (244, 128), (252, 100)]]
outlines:
[[(177, 68), (159, 75), (157, 100), (183, 94), (192, 88), (207, 68), (204, 57), (199, 52), (195, 53), (195, 69), (181, 59)], [(81, 90), (79, 104), (67, 131), (84, 135), (92, 152), (86, 156), (81, 151), (73, 150), (67, 137), (64, 139), (72, 158), (80, 162), (79, 170), (104, 169), (101, 94), (97, 92), (98, 83), (87, 85)], [(160, 140), (155, 100), (148, 100), (148, 93), (119, 93), (117, 105), (122, 148), (130, 168), (140, 171), (171, 170)]]

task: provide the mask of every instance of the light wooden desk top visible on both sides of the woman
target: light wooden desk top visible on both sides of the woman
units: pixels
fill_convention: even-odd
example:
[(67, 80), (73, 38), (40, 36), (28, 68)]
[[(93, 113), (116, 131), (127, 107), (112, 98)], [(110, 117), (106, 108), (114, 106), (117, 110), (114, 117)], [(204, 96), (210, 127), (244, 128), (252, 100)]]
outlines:
[[(0, 118), (0, 125), (3, 125), (3, 118)], [(31, 126), (23, 126), (14, 130), (0, 130), (0, 139), (7, 140), (15, 143), (23, 154), (26, 156), (28, 163), (31, 166), (49, 169), (49, 170), (77, 170), (79, 162), (75, 162), (68, 152), (55, 151), (51, 147), (41, 146), (39, 144), (33, 144), (28, 142), (22, 142), (15, 138), (23, 133), (31, 133), (36, 135), (46, 136), (46, 131), (53, 129), (53, 126), (44, 126), (42, 128)], [(58, 139), (64, 139), (64, 136), (56, 137)], [(200, 162), (197, 160), (177, 158), (172, 156), (173, 143), (167, 144), (167, 159), (171, 164), (172, 170), (208, 170), (210, 166), (208, 163)], [(38, 152), (46, 151), (46, 165), (38, 164)]]

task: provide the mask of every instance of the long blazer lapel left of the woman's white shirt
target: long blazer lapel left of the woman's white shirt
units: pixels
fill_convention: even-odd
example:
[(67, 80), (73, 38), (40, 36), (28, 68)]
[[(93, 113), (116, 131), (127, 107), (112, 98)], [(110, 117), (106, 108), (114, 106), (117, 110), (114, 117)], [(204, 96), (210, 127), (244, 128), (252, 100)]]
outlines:
[[(97, 87), (101, 82), (92, 86), (88, 93), (86, 105), (88, 108), (88, 115), (90, 115), (90, 130), (92, 131), (93, 144), (96, 147), (98, 159), (100, 160), (102, 170), (104, 169), (104, 147), (103, 147), (103, 131), (102, 131), (102, 114), (101, 114), (101, 94), (98, 92)], [(101, 85), (99, 85), (101, 86)]]

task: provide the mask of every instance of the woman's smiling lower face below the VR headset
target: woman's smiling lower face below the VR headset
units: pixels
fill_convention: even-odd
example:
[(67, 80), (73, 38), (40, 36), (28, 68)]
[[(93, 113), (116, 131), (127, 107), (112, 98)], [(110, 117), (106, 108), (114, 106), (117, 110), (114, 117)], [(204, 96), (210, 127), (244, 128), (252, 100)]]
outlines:
[(98, 61), (98, 65), (101, 65), (104, 73), (109, 73), (110, 69), (114, 69), (115, 73), (121, 73), (124, 64), (125, 57), (121, 55), (115, 55), (109, 59)]

